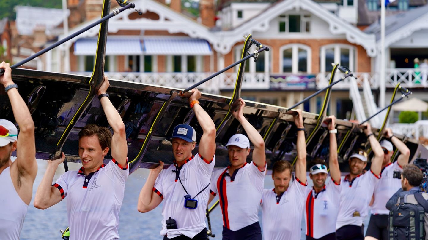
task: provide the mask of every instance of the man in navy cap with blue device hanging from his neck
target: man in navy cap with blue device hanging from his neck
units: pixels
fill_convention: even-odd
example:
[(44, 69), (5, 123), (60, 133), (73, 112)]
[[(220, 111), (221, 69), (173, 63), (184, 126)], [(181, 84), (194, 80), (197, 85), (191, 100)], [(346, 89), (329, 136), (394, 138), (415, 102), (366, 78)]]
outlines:
[(201, 92), (194, 88), (189, 97), (203, 134), (198, 144), (198, 154), (192, 155), (196, 146), (196, 132), (188, 124), (175, 126), (172, 137), (173, 164), (163, 169), (163, 162), (151, 169), (140, 191), (137, 209), (152, 211), (160, 202), (164, 240), (206, 240), (208, 238), (205, 214), (209, 195), (211, 173), (214, 169), (216, 129), (210, 115), (199, 104)]

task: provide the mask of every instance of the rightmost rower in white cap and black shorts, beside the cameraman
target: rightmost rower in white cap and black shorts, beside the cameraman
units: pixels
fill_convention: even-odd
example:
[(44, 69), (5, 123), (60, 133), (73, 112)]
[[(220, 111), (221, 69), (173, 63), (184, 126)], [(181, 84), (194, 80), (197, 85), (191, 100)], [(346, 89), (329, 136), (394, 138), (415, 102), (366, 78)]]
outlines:
[[(376, 184), (373, 199), (370, 204), (371, 216), (369, 226), (367, 227), (366, 240), (387, 240), (388, 239), (388, 216), (389, 210), (386, 209), (386, 202), (401, 189), (400, 179), (393, 178), (394, 171), (402, 171), (403, 166), (409, 162), (410, 149), (400, 139), (392, 134), (392, 130), (385, 129), (385, 138), (380, 142), (383, 149), (382, 178)], [(400, 151), (397, 161), (391, 162), (395, 147)]]

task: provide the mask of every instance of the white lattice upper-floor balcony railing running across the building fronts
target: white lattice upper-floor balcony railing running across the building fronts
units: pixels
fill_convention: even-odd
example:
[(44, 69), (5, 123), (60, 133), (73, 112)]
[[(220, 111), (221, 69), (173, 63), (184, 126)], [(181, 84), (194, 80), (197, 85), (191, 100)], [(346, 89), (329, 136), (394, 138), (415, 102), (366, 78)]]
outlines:
[[(74, 72), (82, 75), (90, 75), (89, 72)], [(207, 78), (212, 73), (140, 73), (140, 72), (106, 72), (113, 79), (142, 82), (153, 85), (161, 85), (174, 88), (187, 88), (196, 82)], [(310, 88), (324, 88), (328, 85), (331, 73), (317, 74), (293, 74), (293, 73), (244, 73), (242, 89), (269, 89), (277, 88), (278, 82), (287, 84), (300, 84), (311, 86)], [(427, 88), (428, 70), (413, 68), (388, 69), (386, 72), (386, 87), (393, 88), (398, 82), (406, 88)], [(343, 73), (336, 73), (335, 81), (342, 77)], [(369, 82), (370, 88), (379, 88), (378, 73), (354, 73), (357, 76), (358, 88), (363, 87), (363, 82)], [(219, 93), (220, 90), (233, 89), (235, 87), (236, 73), (222, 73), (205, 82), (199, 88), (205, 92)], [(334, 89), (349, 89), (350, 78), (334, 85)], [(287, 89), (287, 88), (284, 88)], [(295, 89), (295, 88), (294, 88)]]

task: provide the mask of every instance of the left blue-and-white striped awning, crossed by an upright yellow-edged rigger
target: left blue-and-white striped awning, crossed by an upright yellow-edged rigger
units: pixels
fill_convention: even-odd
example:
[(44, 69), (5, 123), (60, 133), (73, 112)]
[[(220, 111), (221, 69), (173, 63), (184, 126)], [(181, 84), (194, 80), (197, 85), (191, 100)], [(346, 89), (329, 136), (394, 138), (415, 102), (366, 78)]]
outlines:
[[(80, 38), (74, 42), (74, 55), (95, 55), (97, 38)], [(141, 55), (143, 47), (140, 38), (107, 38), (106, 55)]]

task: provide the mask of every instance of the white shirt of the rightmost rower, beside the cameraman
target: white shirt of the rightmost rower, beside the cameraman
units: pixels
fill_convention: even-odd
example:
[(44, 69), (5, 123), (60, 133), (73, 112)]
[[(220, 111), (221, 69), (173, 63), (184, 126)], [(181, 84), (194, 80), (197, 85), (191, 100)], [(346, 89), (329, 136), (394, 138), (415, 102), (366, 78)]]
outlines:
[(389, 214), (389, 210), (385, 207), (386, 202), (388, 202), (398, 189), (401, 189), (401, 179), (394, 179), (392, 177), (394, 170), (403, 171), (401, 166), (398, 165), (398, 161), (389, 163), (380, 173), (382, 178), (375, 186), (375, 192), (373, 193), (375, 201), (370, 207), (372, 209), (372, 214)]

